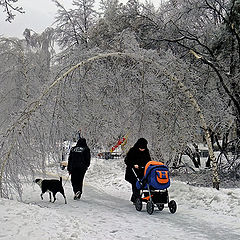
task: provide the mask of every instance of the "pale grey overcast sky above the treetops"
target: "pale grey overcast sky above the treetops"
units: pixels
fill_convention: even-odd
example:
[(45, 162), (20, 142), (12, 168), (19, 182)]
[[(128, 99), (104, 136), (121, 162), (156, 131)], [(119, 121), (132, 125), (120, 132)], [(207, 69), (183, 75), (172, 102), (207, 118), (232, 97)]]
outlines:
[[(127, 2), (127, 0), (119, 1)], [(72, 0), (59, 0), (59, 2), (68, 9), (71, 7)], [(97, 2), (99, 0), (96, 0)], [(158, 6), (160, 0), (151, 2)], [(22, 33), (26, 28), (41, 33), (54, 22), (57, 7), (51, 0), (19, 0), (17, 6), (23, 7), (25, 13), (17, 13), (12, 23), (5, 21), (6, 14), (0, 8), (0, 36), (23, 38)]]

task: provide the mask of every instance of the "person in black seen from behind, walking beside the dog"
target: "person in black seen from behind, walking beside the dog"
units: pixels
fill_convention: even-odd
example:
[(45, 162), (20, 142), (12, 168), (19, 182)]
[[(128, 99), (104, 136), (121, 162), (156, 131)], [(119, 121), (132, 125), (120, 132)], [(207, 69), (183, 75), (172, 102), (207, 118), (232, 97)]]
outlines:
[(67, 170), (71, 174), (71, 183), (75, 194), (74, 200), (80, 199), (84, 175), (90, 166), (90, 149), (86, 139), (80, 138), (75, 147), (72, 147), (68, 157)]

